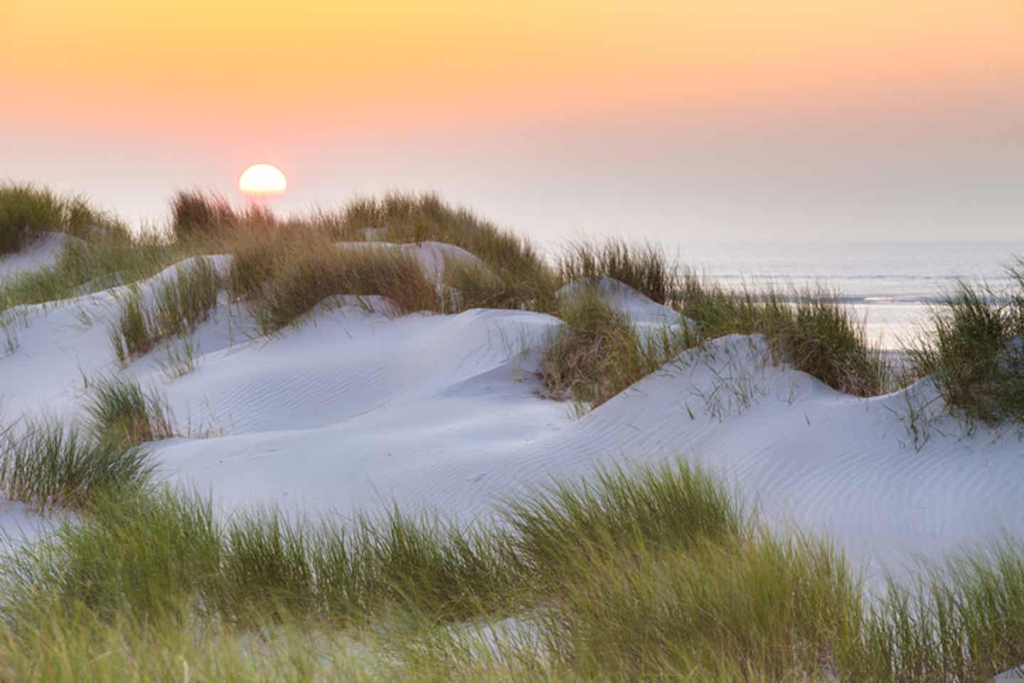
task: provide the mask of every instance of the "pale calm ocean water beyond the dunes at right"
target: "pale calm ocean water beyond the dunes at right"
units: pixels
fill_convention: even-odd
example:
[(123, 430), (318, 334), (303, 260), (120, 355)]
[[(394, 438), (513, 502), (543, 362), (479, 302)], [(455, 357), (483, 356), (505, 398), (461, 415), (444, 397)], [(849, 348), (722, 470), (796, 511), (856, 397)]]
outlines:
[[(1024, 234), (1024, 226), (1022, 226)], [(923, 334), (929, 306), (957, 280), (1010, 285), (1006, 267), (1024, 257), (1015, 242), (689, 242), (666, 247), (728, 288), (824, 286), (862, 316), (883, 348)]]

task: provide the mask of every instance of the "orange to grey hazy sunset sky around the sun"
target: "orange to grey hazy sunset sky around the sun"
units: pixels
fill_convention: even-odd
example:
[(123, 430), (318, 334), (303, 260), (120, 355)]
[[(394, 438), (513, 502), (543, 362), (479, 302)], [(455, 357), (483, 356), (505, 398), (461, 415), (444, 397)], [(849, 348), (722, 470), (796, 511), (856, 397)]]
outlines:
[(1024, 234), (1024, 0), (0, 0), (0, 179), (541, 240)]

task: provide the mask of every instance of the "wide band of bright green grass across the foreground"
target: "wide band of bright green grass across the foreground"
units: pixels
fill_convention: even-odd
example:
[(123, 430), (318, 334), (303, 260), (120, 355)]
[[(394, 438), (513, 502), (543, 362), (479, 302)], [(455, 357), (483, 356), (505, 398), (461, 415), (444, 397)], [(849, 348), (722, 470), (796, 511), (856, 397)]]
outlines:
[(958, 683), (1024, 657), (1009, 543), (868, 600), (831, 544), (766, 530), (681, 463), (553, 482), (499, 513), (224, 517), (197, 493), (122, 488), (0, 566), (0, 666), (12, 681)]

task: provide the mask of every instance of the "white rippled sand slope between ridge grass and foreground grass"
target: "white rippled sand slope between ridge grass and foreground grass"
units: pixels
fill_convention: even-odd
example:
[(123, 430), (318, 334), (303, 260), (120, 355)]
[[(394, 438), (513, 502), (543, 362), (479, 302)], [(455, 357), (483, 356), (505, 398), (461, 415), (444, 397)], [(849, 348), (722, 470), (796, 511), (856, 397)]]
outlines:
[[(226, 257), (218, 262), (226, 267)], [(81, 411), (82, 378), (116, 370), (104, 321), (117, 294), (23, 311), (20, 347), (0, 357), (7, 420)], [(614, 296), (641, 322), (664, 313), (635, 292), (616, 287)], [(211, 489), (228, 509), (272, 502), (317, 514), (395, 500), (471, 519), (552, 476), (682, 456), (723, 473), (774, 522), (827, 531), (871, 567), (897, 569), (1002, 531), (1024, 537), (1019, 435), (965, 434), (936, 418), (919, 421), (929, 437), (915, 445), (911, 409), (939, 408), (927, 382), (856, 398), (772, 364), (762, 339), (737, 336), (682, 354), (573, 419), (567, 404), (538, 395), (553, 317), (392, 319), (378, 299), (334, 304), (299, 329), (256, 338), (248, 314), (224, 302), (195, 335), (195, 372), (168, 381), (165, 348), (120, 371), (162, 387), (193, 435), (156, 445), (168, 479)]]

